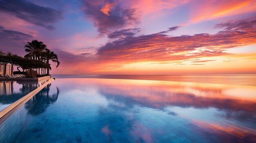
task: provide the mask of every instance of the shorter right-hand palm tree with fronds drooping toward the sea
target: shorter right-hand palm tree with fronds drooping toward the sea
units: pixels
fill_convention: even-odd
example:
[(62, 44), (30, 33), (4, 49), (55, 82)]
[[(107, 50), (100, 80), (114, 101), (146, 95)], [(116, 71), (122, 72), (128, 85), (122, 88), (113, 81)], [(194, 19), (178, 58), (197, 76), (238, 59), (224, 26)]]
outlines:
[[(58, 61), (58, 56), (53, 52), (50, 51), (49, 49), (45, 49), (46, 52), (42, 53), (42, 58), (41, 60), (45, 61), (46, 64), (49, 64), (49, 61), (52, 60), (52, 62), (56, 62), (57, 66), (56, 68), (59, 66), (60, 62)], [(49, 75), (49, 70), (50, 68), (47, 68), (47, 75)]]

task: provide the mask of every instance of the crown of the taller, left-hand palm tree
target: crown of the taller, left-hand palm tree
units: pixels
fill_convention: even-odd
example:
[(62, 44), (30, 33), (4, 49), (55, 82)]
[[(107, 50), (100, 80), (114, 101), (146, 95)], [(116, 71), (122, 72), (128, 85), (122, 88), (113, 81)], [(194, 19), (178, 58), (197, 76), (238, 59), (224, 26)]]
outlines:
[(32, 42), (27, 42), (25, 45), (25, 51), (28, 53), (24, 57), (30, 59), (40, 59), (43, 51), (45, 51), (46, 45), (43, 42), (37, 40), (32, 40)]

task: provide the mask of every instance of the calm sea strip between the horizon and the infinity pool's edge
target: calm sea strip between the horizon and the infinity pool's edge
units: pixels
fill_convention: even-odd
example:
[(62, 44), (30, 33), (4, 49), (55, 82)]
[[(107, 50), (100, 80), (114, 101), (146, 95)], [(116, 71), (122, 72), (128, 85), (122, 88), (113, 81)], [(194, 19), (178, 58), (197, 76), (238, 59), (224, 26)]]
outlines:
[(256, 75), (52, 75), (56, 78), (103, 78), (183, 81), (256, 86)]

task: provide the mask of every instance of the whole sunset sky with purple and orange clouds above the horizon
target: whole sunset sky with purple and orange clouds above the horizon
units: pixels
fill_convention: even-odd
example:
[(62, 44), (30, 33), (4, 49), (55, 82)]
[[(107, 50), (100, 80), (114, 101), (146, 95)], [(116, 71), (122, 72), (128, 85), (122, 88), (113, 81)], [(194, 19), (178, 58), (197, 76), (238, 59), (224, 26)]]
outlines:
[(256, 74), (256, 0), (0, 0), (0, 49), (31, 40), (52, 74)]

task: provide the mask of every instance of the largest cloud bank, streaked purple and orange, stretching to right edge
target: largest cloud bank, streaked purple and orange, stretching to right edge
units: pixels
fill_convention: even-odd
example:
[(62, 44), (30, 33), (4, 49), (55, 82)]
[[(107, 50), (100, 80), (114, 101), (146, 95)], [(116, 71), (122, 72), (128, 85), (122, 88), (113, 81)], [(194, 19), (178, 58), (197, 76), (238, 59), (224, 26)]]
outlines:
[[(256, 44), (256, 18), (217, 24), (225, 28), (216, 34), (168, 36), (163, 32), (122, 37), (101, 46), (97, 55), (109, 62), (164, 62), (228, 55), (227, 48)], [(175, 30), (177, 27), (167, 31)], [(122, 35), (123, 31), (117, 31)], [(118, 36), (114, 36), (118, 37)]]

